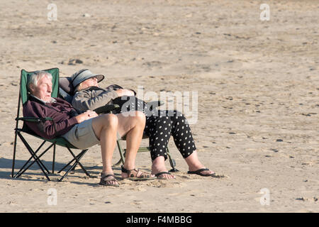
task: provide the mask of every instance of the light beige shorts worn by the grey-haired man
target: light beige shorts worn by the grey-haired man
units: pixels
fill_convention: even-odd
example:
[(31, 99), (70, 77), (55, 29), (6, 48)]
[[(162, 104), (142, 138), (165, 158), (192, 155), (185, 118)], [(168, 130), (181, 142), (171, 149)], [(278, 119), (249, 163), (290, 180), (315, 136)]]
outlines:
[(73, 126), (62, 137), (74, 145), (74, 147), (82, 150), (100, 143), (92, 128), (92, 118)]

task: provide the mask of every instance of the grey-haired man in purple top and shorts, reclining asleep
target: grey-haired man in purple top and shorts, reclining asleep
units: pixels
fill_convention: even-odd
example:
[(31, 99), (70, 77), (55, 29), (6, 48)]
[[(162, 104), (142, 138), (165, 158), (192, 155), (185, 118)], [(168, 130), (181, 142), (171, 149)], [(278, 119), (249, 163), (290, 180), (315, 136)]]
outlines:
[(135, 157), (145, 127), (145, 116), (142, 113), (137, 112), (134, 116), (125, 117), (123, 114), (98, 116), (94, 111), (78, 111), (67, 101), (51, 97), (52, 75), (44, 71), (37, 71), (30, 76), (28, 89), (30, 98), (23, 106), (23, 116), (53, 118), (53, 123), (28, 122), (27, 125), (32, 131), (43, 138), (62, 136), (79, 149), (86, 149), (98, 143), (101, 145), (101, 185), (118, 187), (111, 167), (117, 133), (119, 136), (126, 135), (128, 140), (128, 157), (124, 163), (128, 172), (122, 173), (122, 177), (152, 179), (152, 175), (135, 170)]

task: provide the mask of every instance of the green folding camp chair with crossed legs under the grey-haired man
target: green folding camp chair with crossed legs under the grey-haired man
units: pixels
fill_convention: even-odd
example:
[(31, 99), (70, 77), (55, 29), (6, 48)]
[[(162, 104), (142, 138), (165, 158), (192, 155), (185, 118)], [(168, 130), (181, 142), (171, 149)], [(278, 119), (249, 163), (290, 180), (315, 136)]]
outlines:
[[(43, 71), (50, 72), (50, 74), (52, 74), (52, 94), (51, 94), (51, 96), (53, 98), (55, 98), (55, 97), (57, 97), (58, 87), (59, 87), (59, 83), (58, 83), (59, 82), (59, 69), (52, 68), (52, 69), (43, 70)], [(67, 174), (69, 173), (69, 171), (73, 170), (76, 165), (79, 165), (81, 167), (81, 169), (83, 170), (83, 172), (87, 176), (91, 177), (91, 175), (89, 175), (89, 173), (85, 170), (85, 168), (83, 167), (83, 165), (80, 162), (80, 160), (85, 155), (85, 153), (87, 152), (88, 149), (82, 150), (78, 155), (74, 155), (74, 153), (72, 152), (71, 149), (79, 149), (79, 148), (75, 148), (71, 143), (69, 143), (67, 140), (65, 140), (65, 138), (58, 137), (58, 138), (55, 138), (52, 140), (42, 138), (38, 135), (35, 135), (35, 133), (33, 133), (33, 131), (31, 131), (30, 128), (28, 128), (28, 126), (26, 125), (26, 121), (40, 123), (41, 121), (42, 122), (43, 121), (52, 121), (52, 118), (32, 118), (32, 117), (20, 117), (19, 116), (21, 102), (23, 105), (26, 103), (26, 101), (28, 101), (27, 82), (28, 82), (28, 77), (30, 77), (31, 74), (33, 74), (33, 72), (27, 72), (26, 70), (21, 70), (21, 79), (20, 79), (20, 88), (19, 88), (19, 97), (18, 97), (18, 111), (17, 111), (17, 117), (16, 117), (16, 128), (14, 129), (15, 138), (14, 138), (14, 145), (13, 145), (13, 162), (12, 162), (11, 177), (14, 177), (14, 178), (20, 177), (34, 163), (37, 163), (38, 167), (40, 167), (40, 170), (43, 172), (43, 175), (45, 175), (47, 180), (50, 181), (50, 177), (48, 176), (48, 174), (50, 174), (50, 171), (47, 170), (47, 167), (45, 167), (43, 162), (40, 160), (40, 157), (45, 155), (45, 153), (47, 153), (47, 151), (53, 147), (52, 174), (54, 174), (56, 145), (60, 145), (62, 147), (67, 148), (67, 150), (69, 150), (69, 153), (71, 153), (71, 155), (73, 157), (73, 159), (69, 163), (67, 163), (67, 165), (65, 165), (65, 167), (63, 167), (58, 172), (58, 173), (60, 173), (62, 170), (65, 170), (68, 166), (70, 166), (69, 169), (65, 172), (65, 175), (63, 175), (59, 179), (59, 181), (62, 181), (62, 179), (64, 179), (65, 176), (67, 176)], [(19, 128), (20, 121), (23, 121), (22, 128)], [(40, 146), (36, 150), (33, 150), (33, 148), (31, 148), (30, 144), (26, 140), (25, 136), (23, 136), (24, 134), (32, 135), (35, 138), (43, 140), (43, 142), (40, 144)], [(26, 146), (26, 148), (31, 156), (28, 159), (28, 161), (26, 161), (26, 163), (23, 165), (23, 167), (21, 167), (21, 169), (16, 173), (16, 175), (14, 175), (14, 168), (15, 168), (15, 161), (16, 161), (17, 137), (19, 137), (21, 139), (21, 141), (23, 142), (23, 145)], [(50, 145), (42, 153), (40, 153), (40, 150), (43, 148), (43, 145), (45, 145), (45, 143), (49, 143)], [(40, 155), (38, 155), (39, 153), (40, 153)], [(33, 160), (33, 162), (31, 162), (31, 160)], [(74, 162), (74, 163), (72, 164), (72, 162)]]

